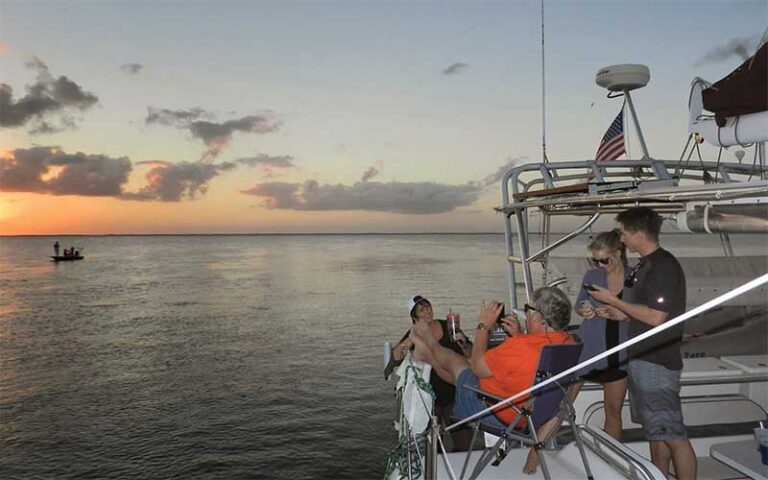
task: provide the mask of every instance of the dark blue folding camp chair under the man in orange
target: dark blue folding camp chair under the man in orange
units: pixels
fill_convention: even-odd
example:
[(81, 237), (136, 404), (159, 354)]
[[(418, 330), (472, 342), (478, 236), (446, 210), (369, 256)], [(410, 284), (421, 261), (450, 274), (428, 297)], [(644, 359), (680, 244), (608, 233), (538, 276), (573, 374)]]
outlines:
[[(580, 343), (544, 346), (541, 349), (541, 356), (539, 357), (539, 365), (536, 368), (534, 384), (538, 384), (543, 380), (564, 372), (578, 364), (581, 348), (582, 344)], [(509, 448), (513, 444), (521, 443), (522, 445), (532, 447), (536, 450), (542, 474), (545, 479), (550, 480), (551, 477), (547, 468), (547, 462), (544, 458), (545, 455), (543, 455), (545, 451), (543, 447), (548, 441), (555, 438), (558, 431), (557, 427), (561, 422), (565, 421), (573, 431), (573, 436), (584, 463), (585, 476), (587, 479), (592, 480), (592, 471), (589, 468), (587, 455), (584, 452), (584, 445), (575, 425), (576, 412), (568, 397), (568, 390), (573, 384), (573, 375), (569, 375), (568, 377), (551, 383), (540, 390), (535, 390), (531, 393), (531, 397), (525, 402), (522, 408), (515, 404), (510, 405), (510, 408), (515, 411), (516, 415), (513, 421), (504, 430), (483, 423), (482, 419), (474, 422), (472, 444), (474, 444), (475, 437), (480, 431), (488, 432), (499, 438), (493, 447), (486, 449), (480, 455), (469, 479), (476, 479), (489, 463), (493, 462), (494, 465), (501, 463)], [(488, 392), (483, 392), (482, 390), (470, 386), (462, 385), (461, 388), (474, 390), (478, 392), (478, 395), (493, 403), (503, 400)], [(516, 428), (518, 423), (520, 423), (521, 418), (525, 419), (526, 426), (523, 428)], [(470, 449), (467, 452), (467, 457), (462, 468), (462, 479), (464, 478), (471, 456), (472, 450)], [(520, 467), (522, 468), (522, 465)]]

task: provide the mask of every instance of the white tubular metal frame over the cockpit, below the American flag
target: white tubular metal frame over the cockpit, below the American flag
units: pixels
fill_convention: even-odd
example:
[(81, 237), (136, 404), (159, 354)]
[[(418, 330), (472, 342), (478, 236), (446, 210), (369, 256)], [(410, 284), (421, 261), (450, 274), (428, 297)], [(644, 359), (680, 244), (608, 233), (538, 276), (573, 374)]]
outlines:
[[(660, 213), (682, 215), (696, 205), (705, 205), (705, 216), (707, 209), (717, 204), (728, 207), (755, 204), (768, 209), (768, 180), (762, 178), (762, 168), (728, 162), (689, 164), (682, 160), (643, 159), (531, 163), (510, 169), (501, 180), (502, 205), (496, 210), (505, 217), (511, 306), (519, 308), (515, 264), (521, 265), (525, 293), (530, 299), (534, 283), (531, 262), (546, 262), (550, 251), (590, 228), (601, 214), (618, 213), (637, 205), (648, 206)], [(528, 238), (530, 209), (538, 209), (543, 214), (542, 219), (546, 222), (541, 230), (543, 238), (549, 237), (548, 222), (553, 215), (590, 218), (569, 235), (531, 254)], [(709, 232), (707, 219), (703, 222)], [(765, 233), (768, 219), (746, 222), (739, 231), (745, 231), (743, 229), (747, 227), (751, 230), (746, 231)], [(723, 226), (718, 233), (728, 246), (726, 251), (730, 251), (727, 231)], [(518, 242), (517, 253), (515, 241)]]

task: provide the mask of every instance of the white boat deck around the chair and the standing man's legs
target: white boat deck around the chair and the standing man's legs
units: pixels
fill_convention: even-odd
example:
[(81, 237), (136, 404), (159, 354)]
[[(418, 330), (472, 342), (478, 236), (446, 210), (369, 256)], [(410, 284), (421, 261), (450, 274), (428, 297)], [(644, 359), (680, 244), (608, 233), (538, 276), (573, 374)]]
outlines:
[[(698, 457), (700, 480), (740, 480), (743, 474), (710, 457), (714, 444), (749, 440), (751, 429), (758, 420), (768, 419), (768, 354), (732, 355), (721, 358), (705, 357), (684, 360), (681, 399), (683, 415), (689, 427), (691, 444)], [(623, 442), (602, 432), (602, 388), (587, 383), (574, 402), (581, 436), (585, 440), (588, 462), (596, 480), (599, 479), (662, 479), (650, 462), (648, 443), (640, 426), (630, 418), (628, 402), (622, 410)], [(718, 417), (717, 425), (710, 425)], [(561, 427), (554, 450), (545, 452), (547, 466), (553, 479), (582, 479), (586, 473), (573, 442), (570, 429)], [(488, 443), (490, 444), (490, 443)], [(464, 478), (480, 455), (474, 451)], [(528, 455), (527, 448), (513, 448), (498, 466), (489, 465), (479, 479), (544, 478), (541, 468), (533, 475), (522, 472)], [(460, 478), (467, 458), (466, 452), (451, 452), (438, 458), (435, 478)], [(446, 464), (450, 464), (450, 468)], [(451, 472), (452, 471), (452, 472)]]

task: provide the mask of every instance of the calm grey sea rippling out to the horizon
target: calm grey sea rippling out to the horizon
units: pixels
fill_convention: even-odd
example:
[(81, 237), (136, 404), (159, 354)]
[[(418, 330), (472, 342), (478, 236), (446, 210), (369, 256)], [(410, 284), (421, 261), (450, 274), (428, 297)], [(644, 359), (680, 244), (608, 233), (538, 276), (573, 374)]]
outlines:
[(380, 478), (408, 296), (506, 298), (501, 235), (54, 240), (0, 239), (2, 479)]

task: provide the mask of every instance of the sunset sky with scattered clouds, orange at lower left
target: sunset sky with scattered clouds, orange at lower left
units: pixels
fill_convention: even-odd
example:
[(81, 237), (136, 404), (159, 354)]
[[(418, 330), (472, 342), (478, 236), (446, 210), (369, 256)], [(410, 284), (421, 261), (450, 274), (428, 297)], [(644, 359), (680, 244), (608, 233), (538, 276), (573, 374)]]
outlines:
[[(649, 66), (638, 114), (677, 159), (691, 80), (768, 25), (768, 0), (545, 10), (552, 161), (593, 157), (616, 63)], [(540, 21), (539, 0), (0, 0), (0, 235), (500, 232), (498, 173), (541, 158)]]

